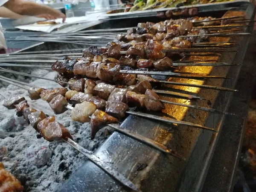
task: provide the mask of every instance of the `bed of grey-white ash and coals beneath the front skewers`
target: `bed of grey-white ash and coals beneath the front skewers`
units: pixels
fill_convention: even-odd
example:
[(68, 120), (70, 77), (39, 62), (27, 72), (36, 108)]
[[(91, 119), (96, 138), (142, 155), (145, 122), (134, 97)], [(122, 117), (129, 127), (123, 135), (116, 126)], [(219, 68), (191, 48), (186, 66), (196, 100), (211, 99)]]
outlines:
[[(31, 74), (53, 79), (56, 73), (33, 70)], [(34, 78), (29, 80), (23, 76), (16, 76), (16, 78), (23, 82), (30, 82), (36, 87), (60, 87), (53, 81)], [(2, 87), (0, 93), (6, 97), (22, 95), (31, 107), (44, 111), (48, 115), (54, 115), (47, 102), (41, 99), (30, 100), (24, 89), (9, 85)], [(21, 181), (24, 192), (57, 191), (86, 158), (67, 143), (49, 143), (43, 138), (37, 139), (37, 132), (27, 125), (22, 117), (17, 117), (15, 110), (3, 107), (3, 100), (3, 96), (0, 96), (0, 161)], [(68, 128), (77, 143), (90, 151), (96, 150), (108, 137), (105, 136), (103, 128), (94, 140), (89, 140), (89, 123), (72, 121), (70, 111), (55, 117), (58, 122)]]

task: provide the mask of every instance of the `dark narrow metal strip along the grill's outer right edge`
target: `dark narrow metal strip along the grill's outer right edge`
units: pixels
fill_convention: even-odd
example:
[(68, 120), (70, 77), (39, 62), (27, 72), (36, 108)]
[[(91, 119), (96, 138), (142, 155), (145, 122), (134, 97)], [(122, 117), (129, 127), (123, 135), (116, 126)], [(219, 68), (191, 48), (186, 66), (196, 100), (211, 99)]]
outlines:
[[(253, 83), (256, 77), (255, 68), (256, 33), (250, 38), (250, 43), (245, 55), (241, 74), (230, 103), (230, 112), (239, 117), (227, 117), (223, 125), (218, 145), (214, 152), (209, 172), (205, 179), (203, 192), (233, 191), (233, 178), (239, 161), (241, 145), (244, 137), (244, 125), (247, 119), (247, 110), (250, 101)], [(221, 174), (220, 174), (221, 173)]]

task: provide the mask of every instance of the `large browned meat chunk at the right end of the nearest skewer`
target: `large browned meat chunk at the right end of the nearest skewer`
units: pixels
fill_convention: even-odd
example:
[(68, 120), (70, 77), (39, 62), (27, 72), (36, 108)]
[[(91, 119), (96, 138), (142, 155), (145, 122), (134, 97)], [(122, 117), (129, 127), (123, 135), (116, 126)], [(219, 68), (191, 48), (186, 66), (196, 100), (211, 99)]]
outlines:
[(42, 129), (41, 134), (43, 135), (44, 139), (49, 142), (61, 139), (65, 140), (67, 138), (73, 140), (67, 128), (57, 121), (49, 123), (46, 128)]

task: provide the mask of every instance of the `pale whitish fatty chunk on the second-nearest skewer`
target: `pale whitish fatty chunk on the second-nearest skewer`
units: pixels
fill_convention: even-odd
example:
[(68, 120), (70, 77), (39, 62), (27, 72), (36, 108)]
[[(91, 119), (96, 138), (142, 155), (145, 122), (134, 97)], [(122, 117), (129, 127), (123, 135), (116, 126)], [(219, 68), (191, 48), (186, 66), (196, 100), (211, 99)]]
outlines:
[(78, 122), (89, 122), (91, 116), (96, 111), (96, 105), (92, 102), (82, 102), (76, 104), (71, 111), (71, 119)]

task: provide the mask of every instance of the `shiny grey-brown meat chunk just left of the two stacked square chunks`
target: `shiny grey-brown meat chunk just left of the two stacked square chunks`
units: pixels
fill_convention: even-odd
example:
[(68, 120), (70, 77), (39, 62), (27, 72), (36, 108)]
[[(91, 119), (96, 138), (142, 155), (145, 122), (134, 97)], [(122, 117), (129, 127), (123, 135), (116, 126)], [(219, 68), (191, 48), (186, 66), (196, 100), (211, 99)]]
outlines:
[(99, 96), (102, 99), (108, 100), (108, 97), (110, 93), (115, 89), (116, 87), (111, 84), (106, 84), (106, 83), (99, 83), (97, 84), (93, 92), (96, 96)]

